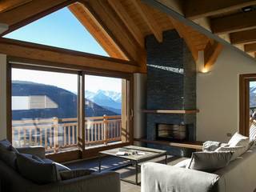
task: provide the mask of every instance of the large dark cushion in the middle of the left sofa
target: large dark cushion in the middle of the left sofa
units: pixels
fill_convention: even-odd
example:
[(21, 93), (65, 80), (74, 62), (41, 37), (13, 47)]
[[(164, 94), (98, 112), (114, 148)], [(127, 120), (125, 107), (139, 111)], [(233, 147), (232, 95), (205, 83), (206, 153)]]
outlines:
[(17, 154), (17, 166), (24, 178), (39, 185), (60, 181), (57, 166), (54, 163), (43, 162), (34, 155)]

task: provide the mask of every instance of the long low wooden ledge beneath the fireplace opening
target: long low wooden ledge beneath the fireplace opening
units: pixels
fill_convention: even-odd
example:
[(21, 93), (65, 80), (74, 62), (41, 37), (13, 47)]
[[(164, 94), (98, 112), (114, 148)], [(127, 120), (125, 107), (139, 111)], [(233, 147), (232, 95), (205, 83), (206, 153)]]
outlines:
[(151, 144), (157, 144), (162, 146), (176, 146), (182, 148), (189, 148), (194, 150), (202, 150), (202, 143), (199, 141), (195, 142), (166, 142), (166, 141), (157, 141), (157, 140), (148, 140), (146, 138), (134, 138), (135, 142), (146, 142)]

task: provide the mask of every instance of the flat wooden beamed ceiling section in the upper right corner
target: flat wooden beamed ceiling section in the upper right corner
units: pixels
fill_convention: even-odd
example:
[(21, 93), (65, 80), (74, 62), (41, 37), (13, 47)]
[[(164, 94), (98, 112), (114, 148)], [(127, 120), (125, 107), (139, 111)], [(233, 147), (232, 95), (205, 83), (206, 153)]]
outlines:
[(210, 30), (238, 49), (256, 55), (255, 0), (156, 0)]

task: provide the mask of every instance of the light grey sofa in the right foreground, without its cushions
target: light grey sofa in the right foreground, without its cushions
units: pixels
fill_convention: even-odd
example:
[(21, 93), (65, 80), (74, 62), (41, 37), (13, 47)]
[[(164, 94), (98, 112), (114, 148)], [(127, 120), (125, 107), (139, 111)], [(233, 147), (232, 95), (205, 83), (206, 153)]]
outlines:
[(214, 173), (147, 162), (142, 165), (142, 192), (253, 192), (256, 149)]

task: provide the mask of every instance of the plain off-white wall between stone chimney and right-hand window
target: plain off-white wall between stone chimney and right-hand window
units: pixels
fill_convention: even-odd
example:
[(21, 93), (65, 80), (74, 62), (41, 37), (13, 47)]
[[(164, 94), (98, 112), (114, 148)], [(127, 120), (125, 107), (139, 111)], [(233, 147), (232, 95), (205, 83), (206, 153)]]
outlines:
[(229, 140), (239, 122), (239, 74), (256, 74), (256, 61), (229, 47), (218, 56), (208, 74), (198, 74), (197, 139)]

